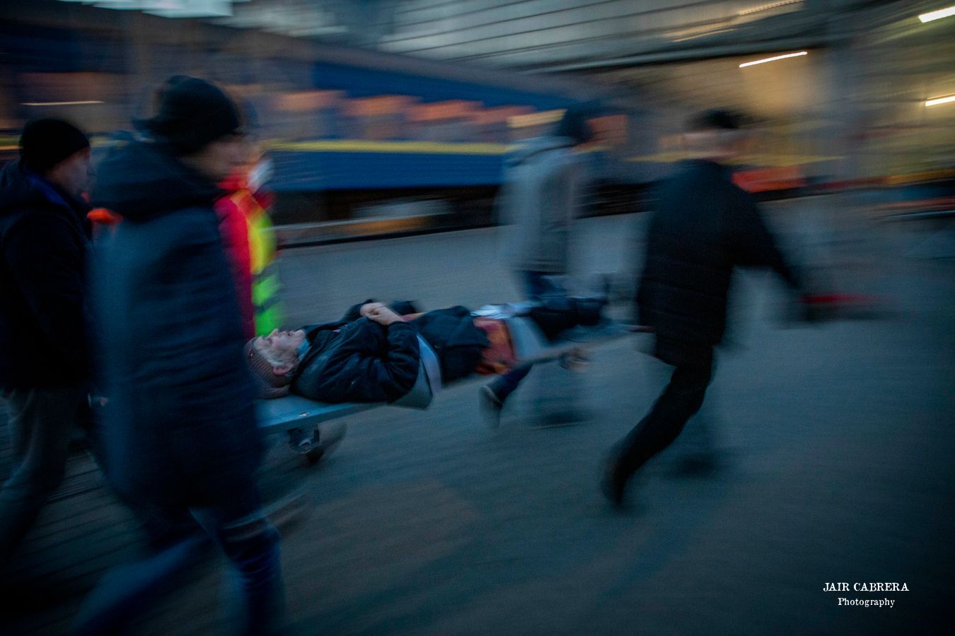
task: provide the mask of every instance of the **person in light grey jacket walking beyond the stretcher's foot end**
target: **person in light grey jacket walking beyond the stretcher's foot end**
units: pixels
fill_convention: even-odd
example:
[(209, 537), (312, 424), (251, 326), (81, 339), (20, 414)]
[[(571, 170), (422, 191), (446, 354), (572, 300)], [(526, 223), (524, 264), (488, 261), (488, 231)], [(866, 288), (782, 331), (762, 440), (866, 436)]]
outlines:
[[(587, 105), (567, 108), (553, 133), (528, 139), (507, 157), (503, 185), (496, 202), (499, 220), (512, 225), (503, 256), (528, 298), (550, 289), (546, 277), (569, 270), (571, 225), (580, 214), (584, 165), (579, 148), (589, 142), (593, 130)], [(522, 365), (480, 390), (480, 408), (485, 421), (497, 426), (504, 400), (530, 373)]]

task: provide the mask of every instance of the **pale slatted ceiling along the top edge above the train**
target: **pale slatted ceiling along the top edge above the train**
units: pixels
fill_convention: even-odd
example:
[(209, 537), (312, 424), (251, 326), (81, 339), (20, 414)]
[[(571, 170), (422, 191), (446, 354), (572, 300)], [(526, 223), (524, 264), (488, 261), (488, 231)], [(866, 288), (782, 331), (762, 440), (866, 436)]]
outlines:
[[(184, 0), (180, 0), (184, 1)], [(918, 25), (945, 0), (252, 0), (231, 26), (524, 70), (824, 46), (864, 12)]]

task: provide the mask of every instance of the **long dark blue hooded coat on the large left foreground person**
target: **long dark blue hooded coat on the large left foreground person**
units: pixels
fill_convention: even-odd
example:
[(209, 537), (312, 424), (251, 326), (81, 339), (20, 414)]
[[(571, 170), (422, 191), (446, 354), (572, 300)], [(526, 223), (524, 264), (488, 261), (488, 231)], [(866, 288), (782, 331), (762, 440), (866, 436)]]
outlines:
[(220, 193), (148, 143), (98, 174), (94, 203), (123, 217), (92, 272), (108, 471), (138, 500), (216, 502), (262, 455)]

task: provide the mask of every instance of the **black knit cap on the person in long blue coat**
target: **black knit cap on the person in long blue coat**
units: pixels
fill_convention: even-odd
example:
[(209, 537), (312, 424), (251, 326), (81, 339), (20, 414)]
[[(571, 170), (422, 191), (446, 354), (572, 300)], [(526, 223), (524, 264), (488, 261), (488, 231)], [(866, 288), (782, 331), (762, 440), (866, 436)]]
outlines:
[(175, 75), (159, 89), (159, 113), (138, 126), (167, 142), (177, 154), (193, 154), (229, 134), (241, 134), (236, 103), (215, 84)]

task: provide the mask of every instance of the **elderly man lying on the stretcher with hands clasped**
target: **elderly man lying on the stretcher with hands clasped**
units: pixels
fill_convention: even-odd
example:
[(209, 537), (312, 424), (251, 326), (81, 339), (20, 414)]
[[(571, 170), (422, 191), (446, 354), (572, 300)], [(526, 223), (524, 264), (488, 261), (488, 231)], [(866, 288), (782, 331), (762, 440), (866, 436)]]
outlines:
[[(338, 322), (249, 340), (245, 355), (263, 396), (290, 391), (329, 403), (400, 400), (418, 381), (422, 346), (434, 352), (443, 383), (502, 373), (515, 362), (502, 320), (461, 306), (419, 314), (401, 304), (366, 302)], [(550, 338), (598, 323), (604, 305), (604, 298), (551, 298), (529, 305), (526, 314)]]

